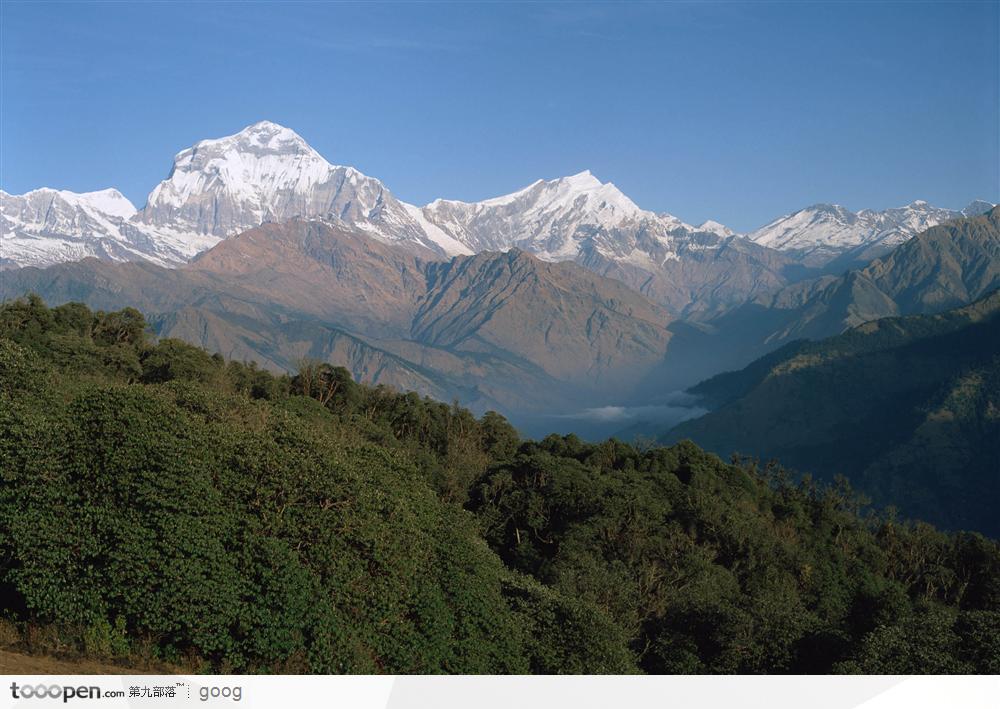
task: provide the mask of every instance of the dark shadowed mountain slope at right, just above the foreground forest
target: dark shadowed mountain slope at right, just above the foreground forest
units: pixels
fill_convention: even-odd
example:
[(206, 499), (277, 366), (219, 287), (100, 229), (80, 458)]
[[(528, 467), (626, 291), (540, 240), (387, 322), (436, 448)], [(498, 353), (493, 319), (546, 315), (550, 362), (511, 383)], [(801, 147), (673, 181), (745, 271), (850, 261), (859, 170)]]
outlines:
[(792, 343), (690, 391), (717, 408), (665, 441), (842, 473), (908, 516), (1000, 534), (1000, 292)]

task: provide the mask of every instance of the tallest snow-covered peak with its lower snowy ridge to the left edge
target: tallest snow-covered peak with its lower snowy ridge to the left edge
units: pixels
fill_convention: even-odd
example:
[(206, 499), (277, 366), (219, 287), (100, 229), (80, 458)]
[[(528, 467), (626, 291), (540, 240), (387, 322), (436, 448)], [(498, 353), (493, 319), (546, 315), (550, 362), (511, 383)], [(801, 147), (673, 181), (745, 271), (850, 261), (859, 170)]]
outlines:
[(138, 212), (115, 190), (2, 193), (0, 267), (87, 256), (176, 266), (221, 239), (292, 217), (347, 222), (442, 256), (469, 253), (414, 209), (378, 180), (328, 163), (294, 131), (262, 121), (182, 150)]

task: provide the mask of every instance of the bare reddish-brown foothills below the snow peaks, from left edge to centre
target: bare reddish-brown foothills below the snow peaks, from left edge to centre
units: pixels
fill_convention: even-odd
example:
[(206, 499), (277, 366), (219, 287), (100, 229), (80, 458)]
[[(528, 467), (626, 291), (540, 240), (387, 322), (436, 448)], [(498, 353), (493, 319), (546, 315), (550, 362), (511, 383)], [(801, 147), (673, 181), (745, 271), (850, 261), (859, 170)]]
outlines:
[(435, 261), (342, 225), (293, 220), (182, 268), (93, 259), (4, 274), (0, 294), (131, 305), (157, 332), (235, 359), (302, 358), (479, 409), (562, 409), (627, 395), (666, 352), (669, 315), (571, 263), (521, 252)]

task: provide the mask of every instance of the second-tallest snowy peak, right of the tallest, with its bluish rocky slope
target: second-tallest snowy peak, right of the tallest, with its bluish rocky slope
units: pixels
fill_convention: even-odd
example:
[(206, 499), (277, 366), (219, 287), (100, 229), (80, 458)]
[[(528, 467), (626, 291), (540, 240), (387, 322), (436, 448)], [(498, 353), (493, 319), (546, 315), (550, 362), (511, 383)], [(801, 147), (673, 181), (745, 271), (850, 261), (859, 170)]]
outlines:
[(644, 210), (589, 171), (481, 202), (439, 199), (419, 212), (476, 253), (516, 248), (575, 261), (682, 316), (708, 317), (785, 283), (787, 259), (777, 252), (717, 222), (695, 227)]

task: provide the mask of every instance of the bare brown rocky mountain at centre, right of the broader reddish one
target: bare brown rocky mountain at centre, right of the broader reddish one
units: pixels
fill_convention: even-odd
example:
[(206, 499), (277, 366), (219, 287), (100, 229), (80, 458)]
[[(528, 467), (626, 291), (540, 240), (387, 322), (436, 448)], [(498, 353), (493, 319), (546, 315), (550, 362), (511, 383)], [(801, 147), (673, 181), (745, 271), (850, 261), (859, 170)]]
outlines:
[(465, 352), (503, 352), (559, 379), (628, 388), (662, 358), (667, 312), (621, 283), (522, 251), (432, 264), (411, 333)]

